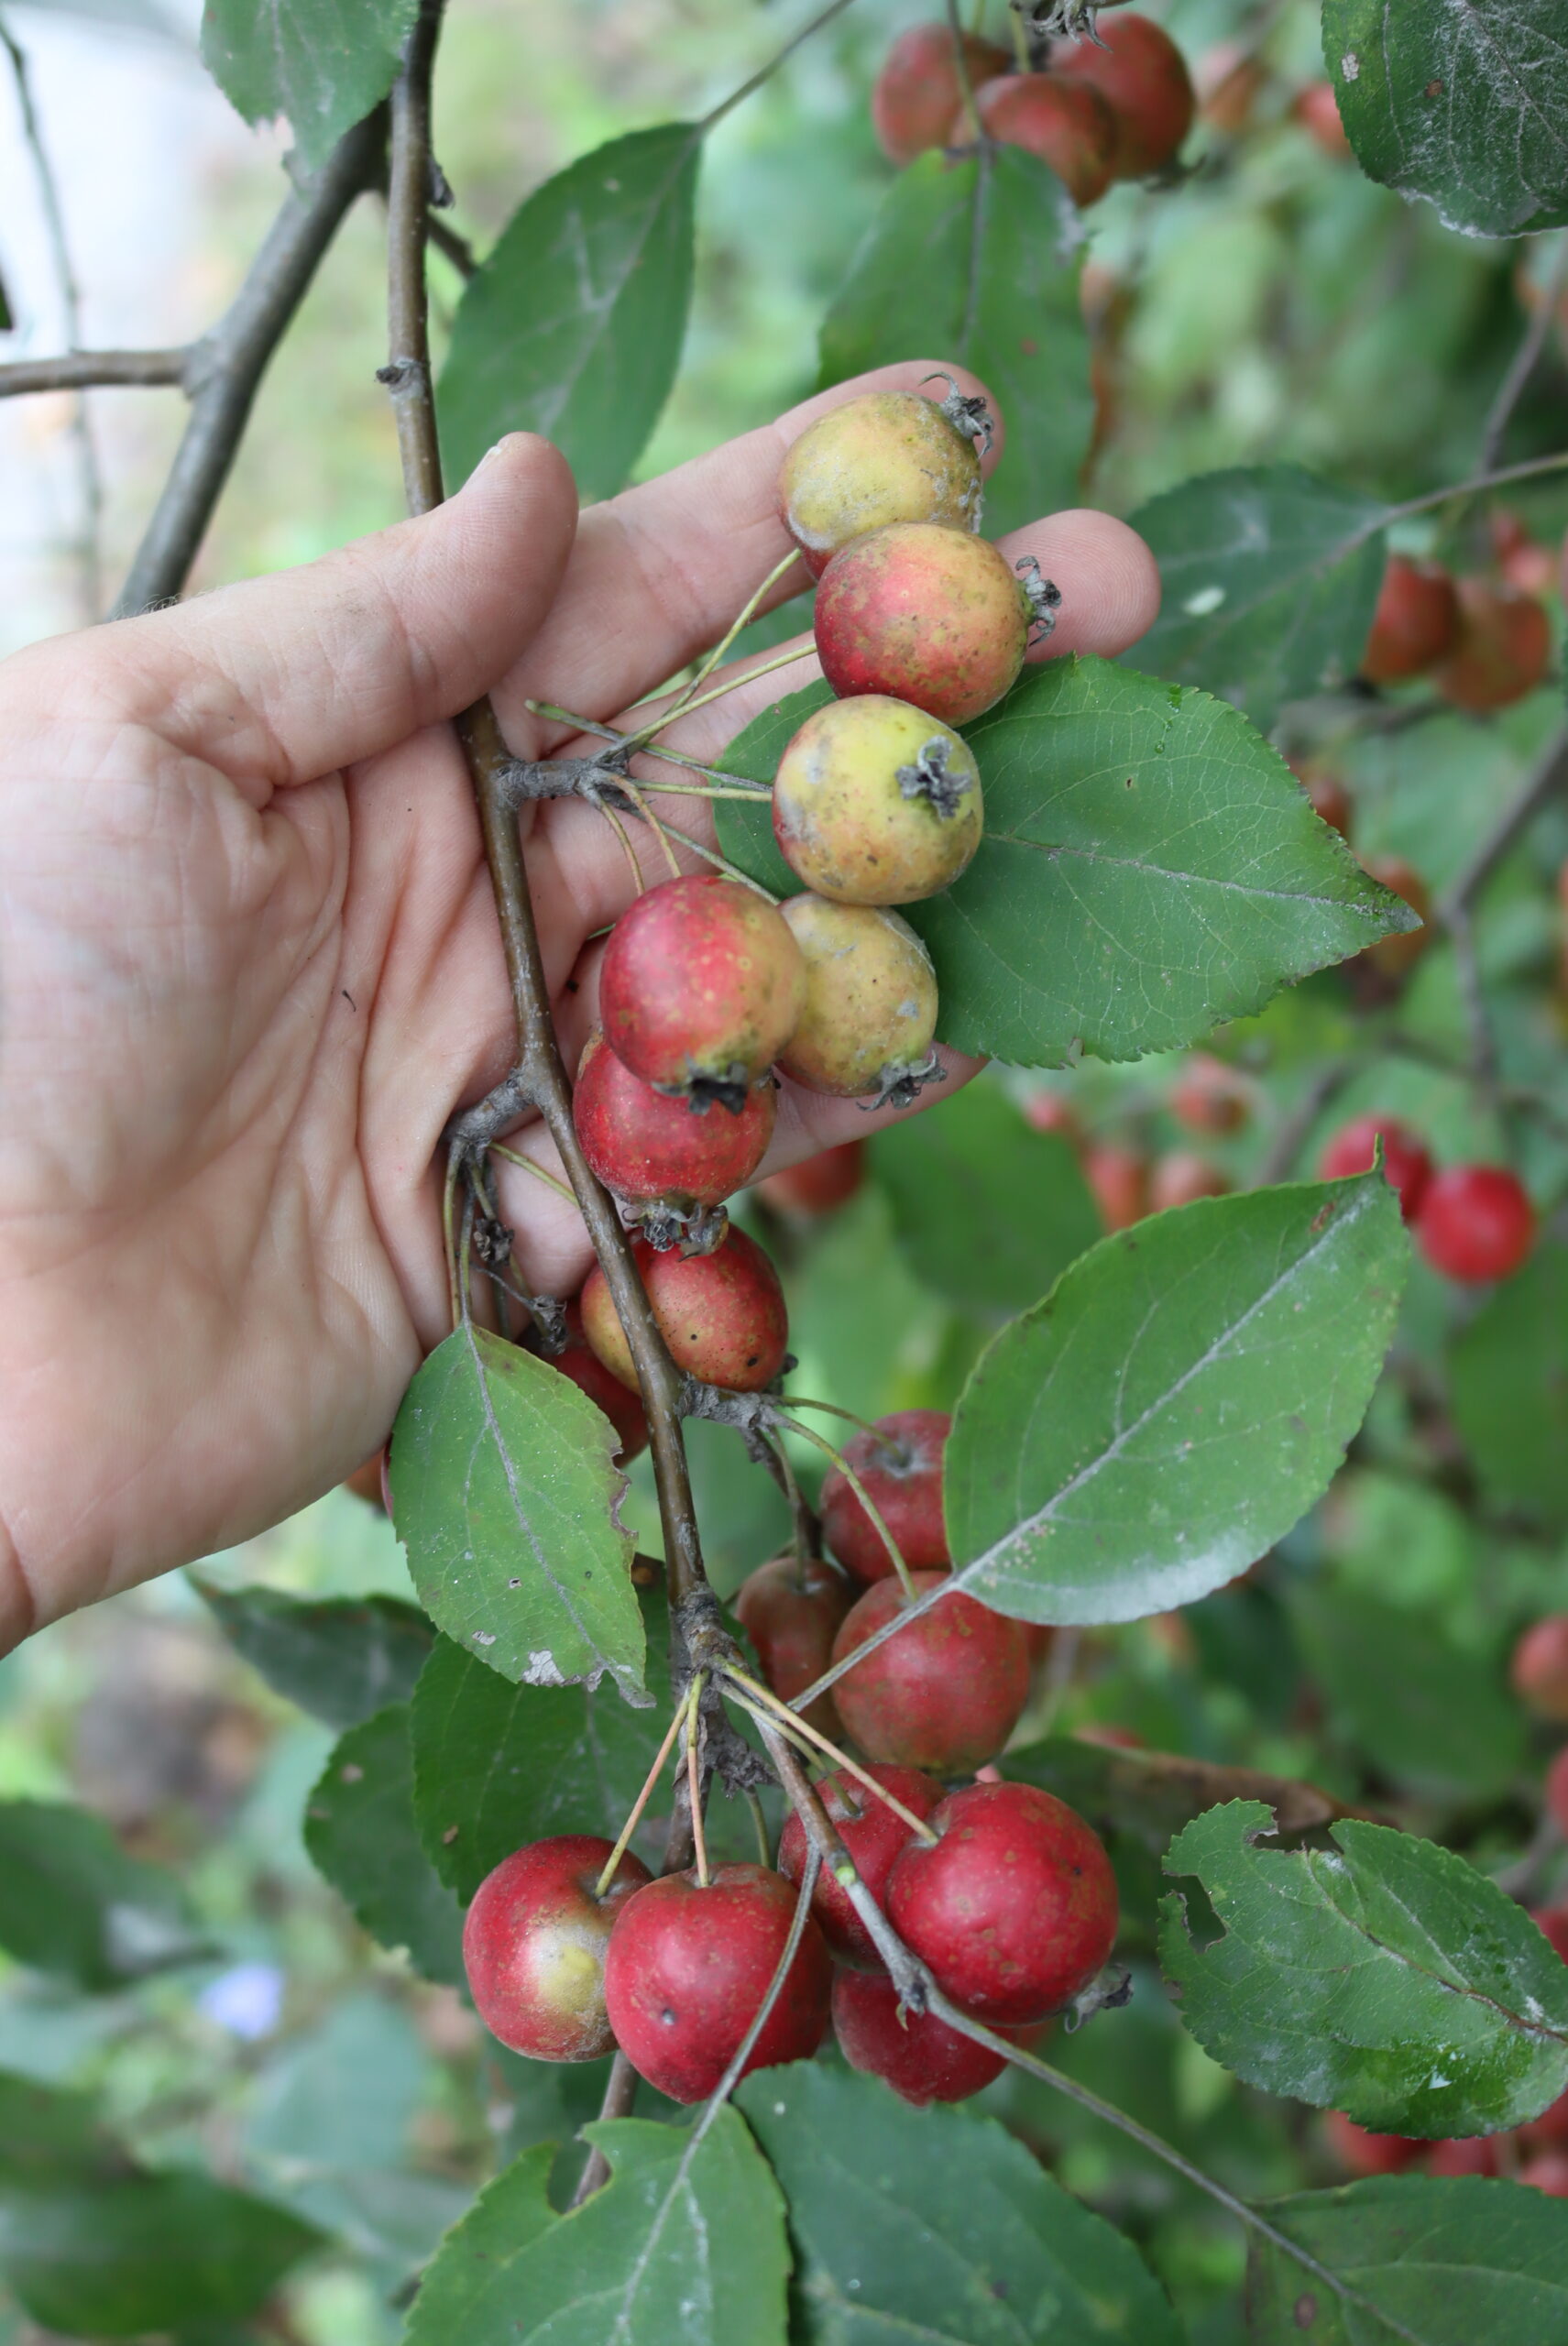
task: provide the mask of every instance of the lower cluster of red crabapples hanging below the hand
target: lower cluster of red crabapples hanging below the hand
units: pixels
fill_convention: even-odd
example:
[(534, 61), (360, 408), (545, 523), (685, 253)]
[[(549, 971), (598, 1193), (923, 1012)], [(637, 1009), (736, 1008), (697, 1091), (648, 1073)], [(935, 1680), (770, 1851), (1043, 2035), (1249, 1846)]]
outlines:
[[(915, 1605), (948, 1572), (946, 1431), (946, 1417), (913, 1410), (861, 1433), (822, 1494), (838, 1565), (775, 1558), (739, 1591), (737, 1616), (784, 1701), (911, 1605), (861, 1499), (915, 1567)], [(803, 1713), (819, 1736), (833, 1729), (861, 1755), (840, 1752), (845, 1764), (817, 1783), (859, 1884), (937, 1987), (1009, 2043), (1033, 2041), (1087, 1989), (1117, 1933), (1115, 1874), (1096, 1832), (1052, 1792), (1002, 1783), (988, 1767), (1028, 1677), (1030, 1630), (953, 1591)], [(991, 1781), (976, 1781), (979, 1769)], [(671, 2100), (704, 2100), (784, 1961), (807, 1858), (798, 1816), (784, 1825), (777, 1867), (730, 1863), (655, 1881), (594, 1835), (519, 1849), (467, 1912), (479, 2015), (535, 2060), (592, 2060), (620, 2046)], [(829, 2022), (852, 2067), (911, 2102), (979, 2093), (1007, 2060), (930, 2011), (901, 2008), (838, 1870), (817, 1874), (744, 2067), (807, 2060)]]

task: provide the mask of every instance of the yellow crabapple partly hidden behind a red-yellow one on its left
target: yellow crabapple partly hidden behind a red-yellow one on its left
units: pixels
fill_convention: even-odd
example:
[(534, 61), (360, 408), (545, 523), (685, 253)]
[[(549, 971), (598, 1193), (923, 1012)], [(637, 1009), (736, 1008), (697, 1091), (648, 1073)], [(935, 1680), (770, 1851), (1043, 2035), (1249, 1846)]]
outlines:
[(922, 1067), (937, 1035), (937, 971), (908, 922), (883, 906), (824, 896), (791, 896), (782, 910), (805, 962), (805, 1009), (779, 1053), (784, 1074), (864, 1100)]

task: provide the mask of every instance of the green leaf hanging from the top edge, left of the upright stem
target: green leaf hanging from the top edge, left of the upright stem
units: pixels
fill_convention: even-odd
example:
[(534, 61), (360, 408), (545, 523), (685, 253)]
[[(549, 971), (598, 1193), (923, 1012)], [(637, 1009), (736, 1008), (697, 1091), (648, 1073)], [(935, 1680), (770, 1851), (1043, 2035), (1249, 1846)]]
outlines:
[(418, 0), (207, 0), (202, 61), (246, 122), (289, 115), (315, 171), (397, 80)]

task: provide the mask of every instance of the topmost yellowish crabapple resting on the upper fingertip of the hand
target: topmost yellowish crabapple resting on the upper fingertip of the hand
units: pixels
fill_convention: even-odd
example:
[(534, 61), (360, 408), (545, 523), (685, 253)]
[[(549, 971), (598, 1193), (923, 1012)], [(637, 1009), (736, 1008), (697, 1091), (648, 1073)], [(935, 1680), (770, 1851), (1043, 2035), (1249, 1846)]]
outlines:
[(819, 415), (779, 472), (779, 518), (822, 577), (840, 547), (892, 521), (979, 530), (974, 441), (918, 392), (866, 392)]

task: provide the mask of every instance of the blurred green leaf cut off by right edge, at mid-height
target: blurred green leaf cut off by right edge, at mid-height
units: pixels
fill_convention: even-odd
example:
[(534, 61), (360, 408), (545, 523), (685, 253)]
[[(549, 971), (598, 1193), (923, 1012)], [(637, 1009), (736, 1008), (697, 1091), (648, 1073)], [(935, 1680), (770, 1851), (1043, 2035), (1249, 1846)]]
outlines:
[(1448, 1403), (1491, 1499), (1568, 1520), (1568, 1246), (1545, 1239), (1451, 1340)]

